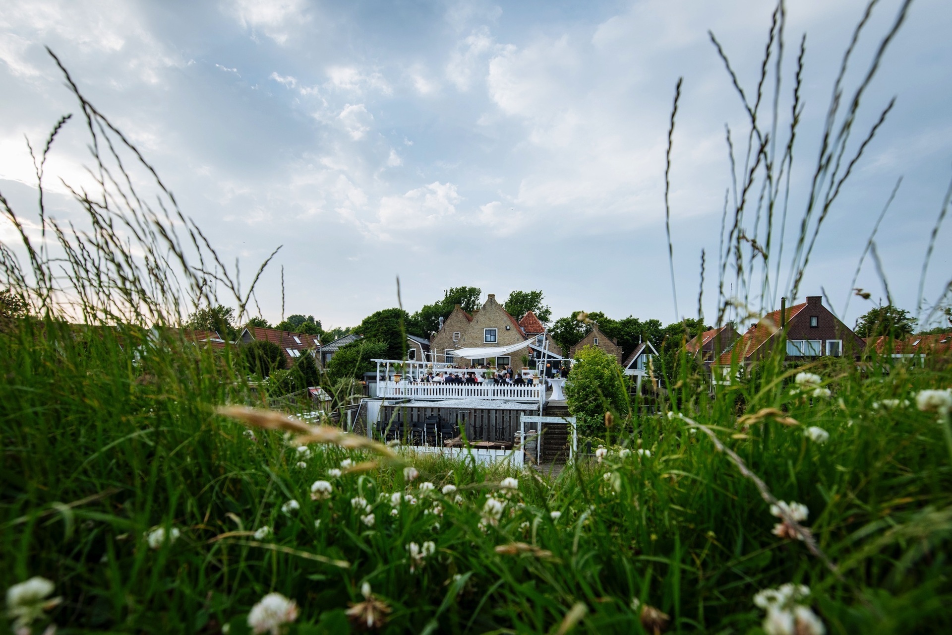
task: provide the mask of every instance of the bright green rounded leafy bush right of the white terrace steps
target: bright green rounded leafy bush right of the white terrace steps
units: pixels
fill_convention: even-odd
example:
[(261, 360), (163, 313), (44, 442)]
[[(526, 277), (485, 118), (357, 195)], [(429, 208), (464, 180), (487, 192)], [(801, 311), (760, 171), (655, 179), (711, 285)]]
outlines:
[(628, 414), (628, 379), (614, 355), (599, 347), (575, 353), (565, 396), (568, 409), (586, 434), (605, 430), (605, 412)]

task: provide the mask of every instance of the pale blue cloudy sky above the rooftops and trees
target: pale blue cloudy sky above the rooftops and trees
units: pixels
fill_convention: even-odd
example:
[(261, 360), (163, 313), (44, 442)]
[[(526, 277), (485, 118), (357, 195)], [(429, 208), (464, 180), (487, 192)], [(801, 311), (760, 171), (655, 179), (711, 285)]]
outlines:
[[(846, 71), (847, 94), (900, 4), (876, 5)], [(793, 252), (833, 83), (864, 8), (854, 0), (786, 8), (781, 131), (805, 34), (803, 110), (786, 255), (775, 238), (772, 263)], [(450, 287), (500, 300), (538, 288), (553, 317), (584, 309), (669, 323), (698, 315), (703, 288), (711, 322), (732, 183), (725, 126), (743, 171), (747, 120), (708, 31), (752, 96), (773, 10), (755, 0), (7, 0), (0, 192), (19, 214), (35, 214), (25, 137), (37, 143), (76, 111), (48, 46), (226, 262), (239, 258), (252, 271), (282, 246), (256, 291), (271, 322), (281, 319), (282, 267), (285, 313), (312, 314), (325, 327), (396, 306), (397, 276), (410, 311)], [(885, 303), (867, 256), (856, 286), (872, 297), (853, 297), (843, 313), (900, 177), (877, 254), (895, 304), (913, 312), (919, 304), (923, 257), (952, 178), (950, 30), (952, 5), (915, 2), (863, 94), (847, 156), (894, 96), (896, 105), (829, 209), (799, 292), (801, 300), (824, 293), (847, 324)], [(669, 175), (676, 312), (664, 175), (679, 78)], [(86, 143), (72, 121), (50, 159), (57, 218), (79, 218), (63, 184), (85, 178)], [(0, 239), (10, 243), (5, 223)], [(926, 307), (952, 277), (949, 225), (936, 238)], [(747, 233), (763, 243), (763, 227)], [(755, 311), (777, 308), (789, 288), (783, 263), (777, 288), (747, 299)], [(729, 269), (727, 278), (724, 292), (736, 293)]]

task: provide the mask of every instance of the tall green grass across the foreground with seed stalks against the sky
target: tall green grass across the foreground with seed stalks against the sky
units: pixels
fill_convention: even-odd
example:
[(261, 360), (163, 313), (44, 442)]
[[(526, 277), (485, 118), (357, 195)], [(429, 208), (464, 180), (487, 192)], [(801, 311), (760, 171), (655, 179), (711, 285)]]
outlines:
[[(783, 41), (783, 6), (775, 20), (768, 50)], [(935, 413), (915, 407), (918, 390), (952, 383), (941, 360), (831, 366), (822, 371), (829, 396), (798, 385), (798, 370), (777, 357), (714, 393), (684, 363), (666, 387), (672, 416), (616, 412), (601, 460), (553, 480), (410, 454), (332, 476), (342, 461), (375, 455), (340, 444), (299, 451), (282, 430), (218, 414), (253, 401), (233, 350), (197, 347), (165, 326), (219, 289), (243, 311), (252, 291), (157, 176), (148, 196), (133, 187), (141, 180), (121, 176), (154, 173), (69, 85), (102, 189), (77, 190), (89, 229), (64, 227), (41, 206), (39, 226), (54, 240), (37, 238), (4, 201), (28, 264), (4, 245), (0, 269), (30, 303), (29, 317), (0, 329), (0, 585), (53, 581), (63, 602), (49, 619), (61, 632), (248, 632), (248, 611), (270, 591), (300, 606), (292, 630), (347, 632), (358, 625), (345, 611), (364, 601), (364, 583), (389, 608), (382, 629), (394, 633), (760, 632), (753, 596), (791, 582), (809, 585), (804, 603), (829, 632), (952, 628), (952, 457)], [(777, 167), (764, 172), (772, 193), (761, 199), (774, 240), (793, 133), (776, 159), (763, 130), (750, 134), (743, 174)], [(832, 157), (823, 174), (839, 173), (841, 147), (823, 155)], [(774, 271), (765, 298), (777, 273), (747, 250), (767, 241), (756, 222), (744, 228), (754, 191), (744, 179), (721, 269), (734, 254), (740, 280), (761, 259), (760, 271)], [(802, 225), (794, 290), (810, 252), (803, 227), (819, 226), (832, 200), (824, 196), (814, 225)], [(744, 279), (742, 288), (760, 288), (759, 278)], [(722, 311), (730, 302), (722, 293)], [(811, 440), (808, 427), (828, 441)], [(506, 477), (518, 488), (504, 488)], [(317, 480), (332, 490), (311, 500)], [(446, 485), (456, 490), (444, 494)], [(392, 505), (395, 492), (415, 503)], [(498, 519), (487, 496), (505, 503)], [(358, 497), (369, 510), (354, 505)], [(771, 497), (808, 508), (801, 526), (815, 548), (774, 533), (782, 519)], [(272, 533), (259, 532), (265, 526)], [(180, 537), (149, 545), (155, 527)], [(412, 558), (407, 547), (429, 541), (434, 552)]]

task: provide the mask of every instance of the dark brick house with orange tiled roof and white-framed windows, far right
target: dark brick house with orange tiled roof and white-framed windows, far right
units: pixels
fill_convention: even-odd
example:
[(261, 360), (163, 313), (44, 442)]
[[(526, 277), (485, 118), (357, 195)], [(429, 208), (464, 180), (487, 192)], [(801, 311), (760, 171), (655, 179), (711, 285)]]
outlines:
[[(785, 304), (785, 299), (784, 299)], [(735, 343), (724, 351), (714, 366), (749, 366), (766, 356), (786, 336), (787, 362), (816, 359), (823, 355), (848, 355), (859, 360), (865, 343), (850, 327), (823, 307), (823, 297), (807, 296), (806, 302), (764, 315)]]

